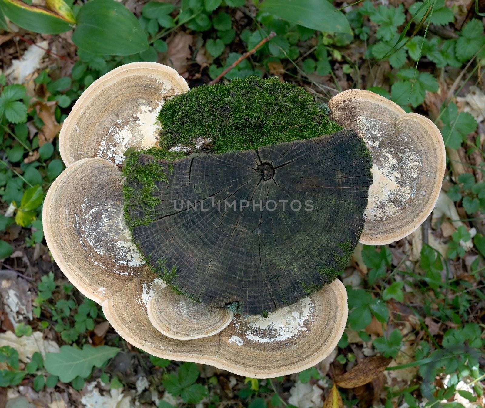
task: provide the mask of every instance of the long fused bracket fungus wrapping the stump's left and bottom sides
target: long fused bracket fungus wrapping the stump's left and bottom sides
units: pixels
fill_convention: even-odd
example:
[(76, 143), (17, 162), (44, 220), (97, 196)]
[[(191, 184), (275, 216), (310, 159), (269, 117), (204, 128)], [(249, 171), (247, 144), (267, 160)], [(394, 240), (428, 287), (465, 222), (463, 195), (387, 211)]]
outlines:
[(166, 285), (143, 264), (133, 264), (136, 248), (125, 240), (121, 208), (117, 167), (100, 158), (83, 159), (50, 187), (43, 222), (49, 249), (65, 276), (102, 303), (110, 324), (129, 343), (158, 357), (268, 378), (311, 367), (339, 342), (348, 308), (338, 280), (268, 318), (238, 315), (210, 337), (162, 335), (150, 323), (146, 305)]

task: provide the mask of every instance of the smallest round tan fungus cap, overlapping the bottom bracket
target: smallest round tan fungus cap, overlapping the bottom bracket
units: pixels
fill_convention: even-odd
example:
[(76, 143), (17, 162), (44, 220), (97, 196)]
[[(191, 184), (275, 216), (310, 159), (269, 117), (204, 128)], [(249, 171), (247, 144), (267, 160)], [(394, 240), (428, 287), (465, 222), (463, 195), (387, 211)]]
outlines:
[(234, 317), (232, 311), (216, 309), (175, 293), (165, 287), (147, 305), (153, 327), (172, 339), (190, 340), (209, 337), (224, 329)]

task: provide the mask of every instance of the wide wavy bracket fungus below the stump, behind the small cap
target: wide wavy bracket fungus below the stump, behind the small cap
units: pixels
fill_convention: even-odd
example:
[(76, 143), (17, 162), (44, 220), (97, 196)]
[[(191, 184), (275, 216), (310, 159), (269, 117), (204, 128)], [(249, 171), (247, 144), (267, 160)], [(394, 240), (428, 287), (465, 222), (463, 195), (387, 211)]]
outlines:
[(253, 378), (296, 373), (332, 352), (347, 321), (347, 294), (335, 280), (266, 319), (237, 315), (219, 334), (175, 340), (148, 320), (146, 303), (160, 290), (160, 279), (154, 278), (147, 272), (133, 279), (103, 303), (103, 312), (129, 343), (165, 359), (210, 364)]

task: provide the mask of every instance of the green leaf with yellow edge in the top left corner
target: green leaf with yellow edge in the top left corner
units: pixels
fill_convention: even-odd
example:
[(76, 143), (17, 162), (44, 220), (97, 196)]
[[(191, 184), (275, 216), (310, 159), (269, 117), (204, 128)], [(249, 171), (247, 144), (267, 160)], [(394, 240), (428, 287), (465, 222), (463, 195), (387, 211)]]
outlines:
[(0, 6), (13, 23), (34, 33), (59, 34), (72, 30), (70, 17), (66, 18), (23, 1), (0, 0)]

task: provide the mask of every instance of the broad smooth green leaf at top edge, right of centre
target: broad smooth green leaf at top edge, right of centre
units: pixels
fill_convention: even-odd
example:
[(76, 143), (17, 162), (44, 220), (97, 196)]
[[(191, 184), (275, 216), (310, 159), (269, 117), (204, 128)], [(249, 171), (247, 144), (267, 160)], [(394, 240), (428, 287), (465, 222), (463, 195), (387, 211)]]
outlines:
[(312, 30), (352, 34), (347, 18), (328, 1), (264, 0), (260, 11)]

